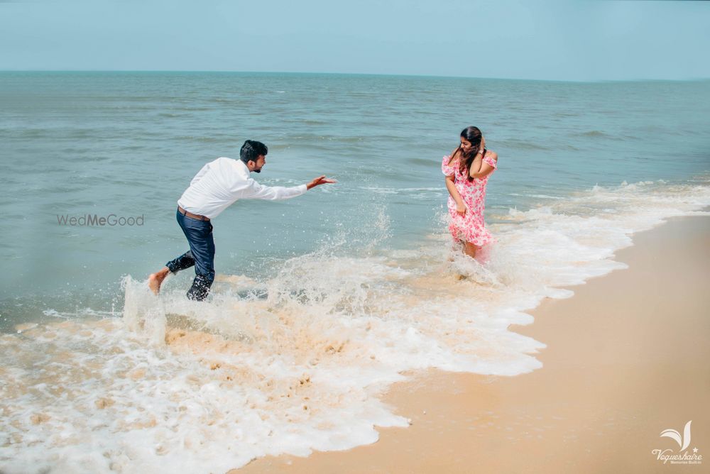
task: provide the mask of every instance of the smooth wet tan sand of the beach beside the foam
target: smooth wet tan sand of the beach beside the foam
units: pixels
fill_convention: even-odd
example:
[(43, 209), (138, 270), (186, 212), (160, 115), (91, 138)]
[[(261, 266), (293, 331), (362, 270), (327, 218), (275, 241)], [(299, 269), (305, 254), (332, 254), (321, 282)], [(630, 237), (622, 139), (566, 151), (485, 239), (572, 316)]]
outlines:
[[(510, 329), (542, 341), (543, 367), (514, 377), (427, 370), (384, 401), (412, 420), (380, 439), (307, 458), (266, 457), (231, 473), (675, 473), (657, 461), (692, 420), (687, 452), (710, 456), (710, 217), (633, 236), (629, 268), (547, 299)], [(667, 454), (671, 454), (667, 452)]]

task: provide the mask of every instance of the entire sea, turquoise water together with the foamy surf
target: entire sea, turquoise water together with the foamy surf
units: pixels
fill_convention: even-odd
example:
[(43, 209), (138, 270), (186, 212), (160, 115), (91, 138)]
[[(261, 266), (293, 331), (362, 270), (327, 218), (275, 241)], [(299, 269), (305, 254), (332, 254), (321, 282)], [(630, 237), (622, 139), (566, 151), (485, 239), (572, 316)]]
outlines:
[[(378, 399), (405, 370), (540, 368), (510, 324), (710, 205), (710, 81), (2, 72), (0, 105), (9, 473), (222, 473), (371, 443), (408, 424)], [(499, 156), (482, 263), (452, 253), (439, 170), (468, 125)], [(185, 299), (190, 270), (153, 297), (147, 275), (187, 249), (176, 200), (247, 138), (269, 146), (263, 184), (339, 183), (234, 204), (209, 300)], [(86, 214), (142, 225), (61, 224)]]

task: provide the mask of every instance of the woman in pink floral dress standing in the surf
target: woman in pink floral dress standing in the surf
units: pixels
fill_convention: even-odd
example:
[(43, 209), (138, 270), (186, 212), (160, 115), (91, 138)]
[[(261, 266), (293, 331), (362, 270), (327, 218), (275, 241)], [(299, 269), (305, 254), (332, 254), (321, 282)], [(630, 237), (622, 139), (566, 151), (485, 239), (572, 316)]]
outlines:
[(449, 231), (454, 241), (464, 244), (471, 258), (495, 239), (484, 224), (484, 204), (488, 176), (498, 167), (498, 155), (486, 150), (486, 140), (476, 127), (461, 131), (461, 144), (444, 156), (442, 172), (449, 190)]

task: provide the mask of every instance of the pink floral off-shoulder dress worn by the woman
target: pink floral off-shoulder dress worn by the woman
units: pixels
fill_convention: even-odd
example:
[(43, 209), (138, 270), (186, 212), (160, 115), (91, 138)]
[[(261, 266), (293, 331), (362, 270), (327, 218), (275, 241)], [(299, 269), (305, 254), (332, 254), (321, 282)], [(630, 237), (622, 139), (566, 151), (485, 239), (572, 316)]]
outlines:
[[(449, 195), (449, 231), (455, 241), (471, 242), (475, 246), (485, 246), (487, 243), (495, 242), (496, 239), (488, 232), (484, 223), (484, 209), (486, 203), (486, 183), (490, 175), (482, 178), (474, 178), (469, 180), (468, 177), (459, 170), (459, 159), (452, 161), (449, 164), (450, 156), (444, 156), (442, 160), (442, 173), (447, 176), (454, 175), (454, 185), (459, 190), (461, 198), (466, 204), (466, 214), (459, 216), (456, 211), (456, 202)], [(490, 153), (486, 153), (483, 160), (491, 165), (493, 169), (497, 169), (496, 160), (491, 158)]]

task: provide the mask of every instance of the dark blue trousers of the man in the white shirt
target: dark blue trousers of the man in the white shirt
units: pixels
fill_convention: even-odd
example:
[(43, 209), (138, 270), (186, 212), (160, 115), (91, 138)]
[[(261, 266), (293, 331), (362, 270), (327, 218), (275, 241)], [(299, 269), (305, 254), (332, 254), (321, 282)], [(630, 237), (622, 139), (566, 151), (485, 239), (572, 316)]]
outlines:
[(182, 232), (185, 233), (185, 237), (187, 237), (190, 250), (187, 250), (175, 260), (170, 260), (165, 266), (168, 267), (170, 272), (177, 273), (195, 265), (195, 280), (192, 281), (192, 287), (187, 292), (187, 297), (202, 301), (207, 298), (209, 287), (214, 282), (212, 223), (210, 221), (192, 219), (192, 217), (183, 216), (180, 211), (177, 212), (178, 224), (182, 228)]

